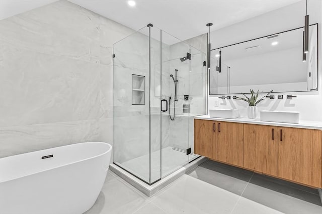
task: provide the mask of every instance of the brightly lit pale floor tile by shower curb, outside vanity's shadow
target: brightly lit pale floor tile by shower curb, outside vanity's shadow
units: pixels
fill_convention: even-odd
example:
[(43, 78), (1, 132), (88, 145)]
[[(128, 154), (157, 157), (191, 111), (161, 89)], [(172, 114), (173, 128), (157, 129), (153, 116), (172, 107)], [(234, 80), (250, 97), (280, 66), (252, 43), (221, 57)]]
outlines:
[(239, 196), (189, 175), (152, 200), (170, 214), (230, 213)]

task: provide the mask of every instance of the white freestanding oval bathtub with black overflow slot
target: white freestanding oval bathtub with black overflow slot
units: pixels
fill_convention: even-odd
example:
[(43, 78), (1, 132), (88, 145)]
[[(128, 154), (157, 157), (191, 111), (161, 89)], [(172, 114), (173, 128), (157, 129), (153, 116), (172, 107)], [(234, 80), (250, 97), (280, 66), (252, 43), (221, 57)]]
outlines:
[(111, 150), (88, 142), (0, 158), (0, 213), (85, 212), (102, 189)]

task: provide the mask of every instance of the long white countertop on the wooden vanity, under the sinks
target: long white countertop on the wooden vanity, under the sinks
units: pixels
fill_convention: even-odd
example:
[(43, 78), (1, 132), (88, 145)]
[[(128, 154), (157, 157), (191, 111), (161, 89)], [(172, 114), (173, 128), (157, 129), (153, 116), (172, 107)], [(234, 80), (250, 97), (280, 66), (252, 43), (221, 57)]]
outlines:
[(292, 128), (306, 128), (306, 129), (322, 130), (322, 121), (300, 120), (299, 123), (277, 123), (277, 122), (261, 121), (260, 118), (249, 119), (249, 118), (245, 118), (245, 117), (238, 117), (235, 119), (226, 119), (226, 118), (209, 117), (209, 115), (201, 115), (201, 116), (197, 116), (194, 118), (195, 119), (202, 119), (202, 120), (216, 120), (216, 121), (224, 121), (224, 122), (249, 123), (249, 124), (258, 124), (258, 125), (283, 126), (283, 127), (292, 127)]

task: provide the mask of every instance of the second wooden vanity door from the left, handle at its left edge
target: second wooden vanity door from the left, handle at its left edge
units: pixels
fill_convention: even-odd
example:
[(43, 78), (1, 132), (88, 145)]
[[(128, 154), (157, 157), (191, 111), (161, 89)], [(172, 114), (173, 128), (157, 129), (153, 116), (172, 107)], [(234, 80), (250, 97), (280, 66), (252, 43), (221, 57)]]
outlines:
[(217, 160), (243, 167), (243, 124), (217, 122)]

